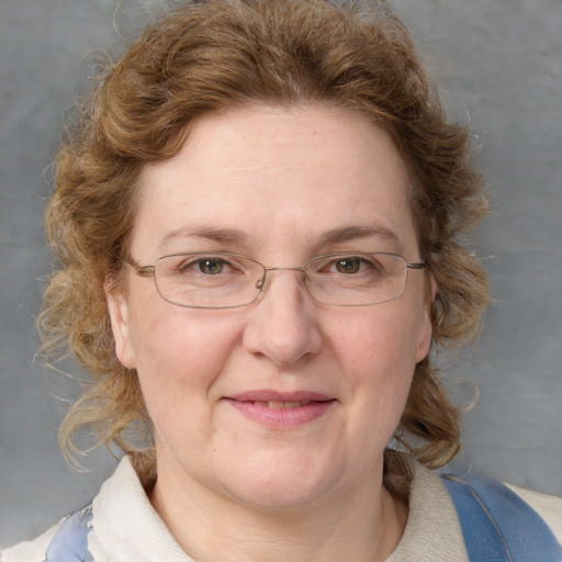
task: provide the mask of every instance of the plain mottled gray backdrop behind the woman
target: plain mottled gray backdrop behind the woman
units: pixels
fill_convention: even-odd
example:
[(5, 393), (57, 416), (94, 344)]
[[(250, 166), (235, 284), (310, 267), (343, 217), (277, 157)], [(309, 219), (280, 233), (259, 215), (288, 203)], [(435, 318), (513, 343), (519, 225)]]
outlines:
[[(34, 363), (34, 316), (50, 257), (42, 215), (61, 116), (100, 49), (150, 5), (128, 0), (0, 0), (0, 546), (81, 506), (114, 465), (77, 474), (56, 428), (78, 389)], [(562, 495), (562, 2), (393, 0), (448, 108), (470, 114), (492, 186), (475, 245), (493, 294), (480, 342), (449, 360), (481, 392), (465, 417), (463, 467)], [(85, 57), (86, 55), (86, 57)], [(474, 397), (451, 383), (458, 398)]]

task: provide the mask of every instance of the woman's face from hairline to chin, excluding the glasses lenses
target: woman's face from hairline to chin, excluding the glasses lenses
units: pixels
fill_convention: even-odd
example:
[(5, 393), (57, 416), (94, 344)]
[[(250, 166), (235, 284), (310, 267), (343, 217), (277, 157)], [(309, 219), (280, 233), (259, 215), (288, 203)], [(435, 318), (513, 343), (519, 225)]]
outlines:
[[(181, 151), (147, 166), (131, 256), (227, 251), (302, 266), (339, 251), (420, 261), (408, 179), (390, 137), (340, 109), (250, 108), (196, 122)], [(110, 295), (120, 360), (138, 373), (159, 481), (289, 508), (381, 486), (431, 326), (424, 271), (373, 306), (314, 302), (295, 270), (252, 304), (172, 305), (130, 269)], [(312, 401), (312, 403), (307, 403)], [(304, 402), (304, 404), (303, 404)]]

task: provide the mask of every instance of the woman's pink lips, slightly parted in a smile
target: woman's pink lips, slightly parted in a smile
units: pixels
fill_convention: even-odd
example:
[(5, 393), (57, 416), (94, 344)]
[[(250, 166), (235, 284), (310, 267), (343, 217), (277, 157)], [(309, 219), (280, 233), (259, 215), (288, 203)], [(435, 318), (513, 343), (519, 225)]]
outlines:
[(295, 429), (324, 416), (337, 402), (308, 391), (258, 390), (224, 398), (246, 418), (270, 429)]

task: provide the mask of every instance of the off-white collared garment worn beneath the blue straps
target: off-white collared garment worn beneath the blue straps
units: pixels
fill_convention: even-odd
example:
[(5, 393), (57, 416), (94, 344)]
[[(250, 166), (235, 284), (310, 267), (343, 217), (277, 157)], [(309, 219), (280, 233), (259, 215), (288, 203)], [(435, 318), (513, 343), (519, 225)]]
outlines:
[[(404, 456), (412, 474), (404, 535), (386, 562), (465, 562), (462, 531), (439, 476)], [(509, 486), (533, 507), (562, 543), (562, 498)], [(131, 460), (124, 458), (92, 503), (88, 547), (95, 562), (194, 562), (150, 505)], [(0, 552), (0, 562), (43, 562), (59, 521), (31, 542)]]

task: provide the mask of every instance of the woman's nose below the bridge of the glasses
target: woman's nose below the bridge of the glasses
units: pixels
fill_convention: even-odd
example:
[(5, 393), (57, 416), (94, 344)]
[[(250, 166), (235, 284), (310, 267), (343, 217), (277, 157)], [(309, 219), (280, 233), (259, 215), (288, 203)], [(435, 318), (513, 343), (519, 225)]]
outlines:
[(277, 366), (293, 366), (316, 355), (323, 345), (317, 305), (306, 291), (300, 269), (268, 270), (263, 293), (250, 308), (244, 331), (246, 350)]

